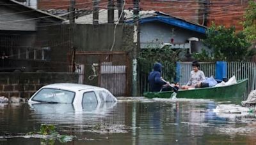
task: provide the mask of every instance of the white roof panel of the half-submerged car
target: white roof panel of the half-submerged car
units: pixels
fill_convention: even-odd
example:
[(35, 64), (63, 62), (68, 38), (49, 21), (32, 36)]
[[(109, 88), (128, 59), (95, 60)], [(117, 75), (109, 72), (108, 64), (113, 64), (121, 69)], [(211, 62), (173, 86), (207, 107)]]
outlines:
[(86, 89), (102, 89), (98, 86), (91, 86), (91, 85), (83, 85), (77, 83), (53, 83), (51, 85), (43, 86), (43, 88), (57, 88), (63, 90), (70, 90), (70, 91), (79, 91), (79, 90), (86, 90)]

